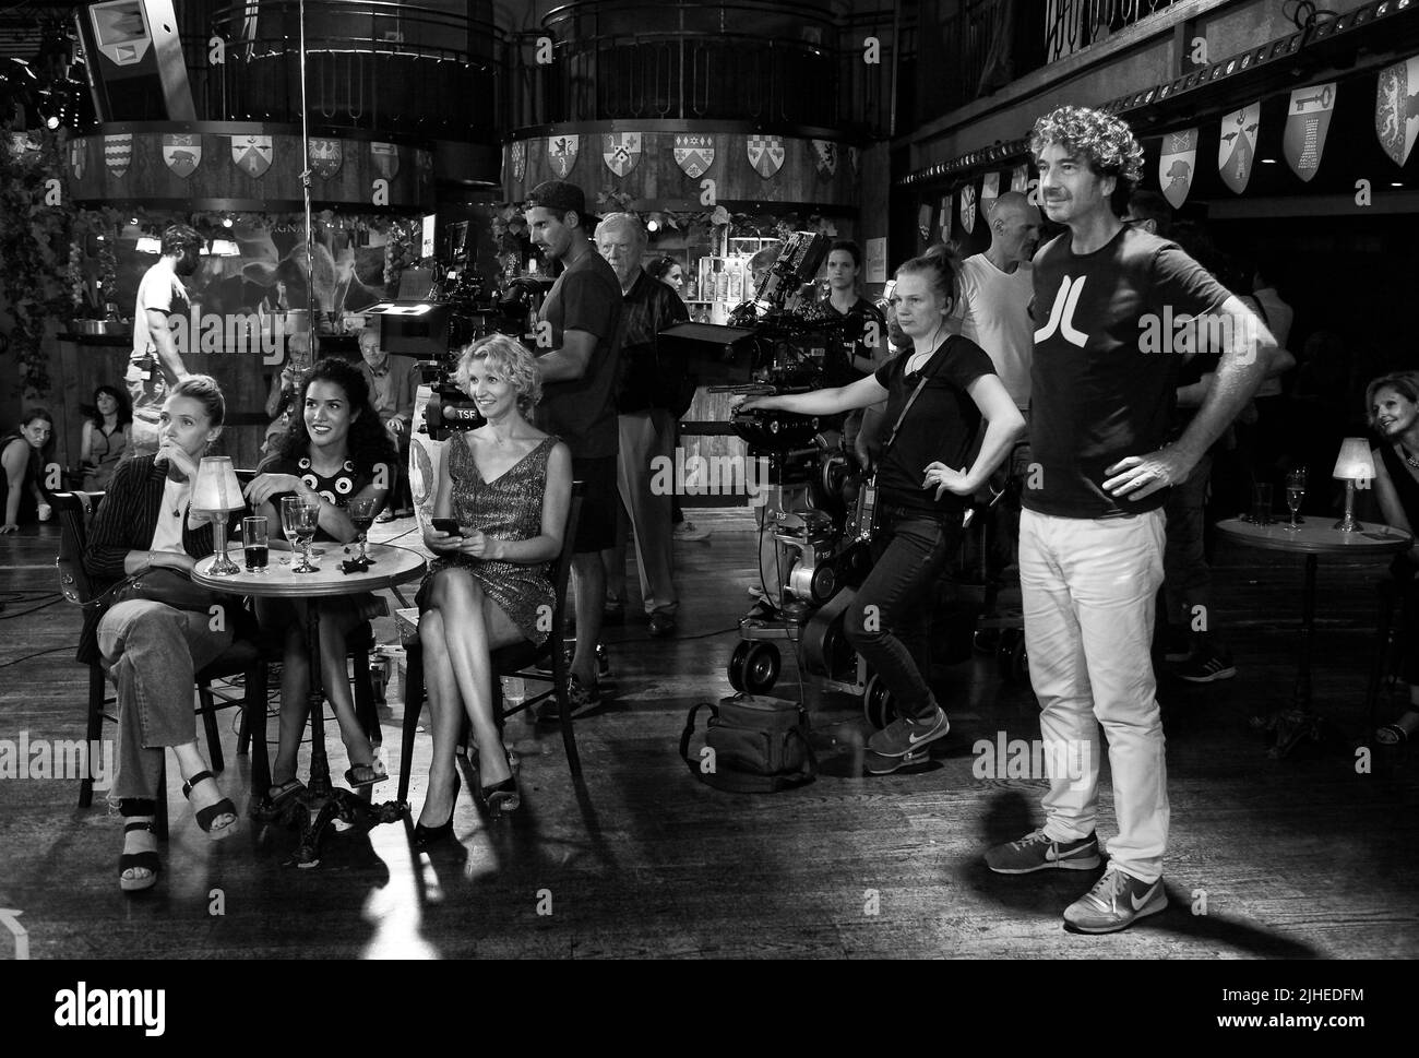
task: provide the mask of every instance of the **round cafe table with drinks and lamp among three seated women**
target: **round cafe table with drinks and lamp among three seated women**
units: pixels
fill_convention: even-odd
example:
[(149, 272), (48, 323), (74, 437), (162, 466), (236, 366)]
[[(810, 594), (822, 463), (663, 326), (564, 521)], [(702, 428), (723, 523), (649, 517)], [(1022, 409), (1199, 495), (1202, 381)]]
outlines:
[[(346, 561), (358, 554), (356, 547), (346, 548), (331, 542), (316, 544), (316, 551), (321, 548), (325, 554), (316, 557), (319, 571), (314, 574), (292, 572), (294, 567), (299, 564), (299, 552), (294, 552), (289, 565), (281, 565), (277, 557), (287, 552), (277, 550), (271, 551), (271, 562), (265, 571), (248, 572), (241, 564), (241, 550), (233, 548), (234, 561), (243, 567), (241, 572), (214, 577), (211, 565), (216, 555), (210, 555), (197, 562), (192, 579), (214, 591), (233, 595), (318, 601), (393, 588), (396, 584), (413, 581), (424, 572), (424, 560), (403, 547), (370, 544), (372, 564), (363, 569), (346, 565)], [(311, 605), (305, 611), (305, 646), (311, 653), (311, 781), (301, 797), (307, 814), (301, 828), (301, 846), (294, 863), (314, 868), (319, 866), (321, 841), (333, 819), (360, 822), (368, 828), (372, 824), (394, 822), (400, 818), (403, 805), (394, 801), (372, 805), (350, 790), (331, 785), (331, 768), (325, 757), (325, 690), (321, 686), (321, 608)], [(264, 736), (257, 733), (257, 737)], [(270, 775), (253, 774), (255, 790), (264, 791), (270, 781)]]

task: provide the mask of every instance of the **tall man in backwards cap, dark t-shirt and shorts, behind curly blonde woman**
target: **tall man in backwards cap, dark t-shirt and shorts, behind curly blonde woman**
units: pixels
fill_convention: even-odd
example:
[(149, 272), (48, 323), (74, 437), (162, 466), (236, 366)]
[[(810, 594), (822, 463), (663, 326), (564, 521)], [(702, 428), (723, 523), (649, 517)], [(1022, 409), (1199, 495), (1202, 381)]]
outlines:
[(528, 196), (525, 216), (532, 241), (549, 261), (562, 264), (538, 315), (535, 352), (542, 403), (536, 425), (566, 442), (572, 476), (586, 483), (572, 558), (576, 655), (569, 677), (572, 709), (582, 710), (600, 700), (596, 643), (606, 599), (600, 552), (616, 544), (622, 288), (612, 266), (590, 243), (596, 217), (586, 212), (580, 187), (561, 180), (539, 183)]

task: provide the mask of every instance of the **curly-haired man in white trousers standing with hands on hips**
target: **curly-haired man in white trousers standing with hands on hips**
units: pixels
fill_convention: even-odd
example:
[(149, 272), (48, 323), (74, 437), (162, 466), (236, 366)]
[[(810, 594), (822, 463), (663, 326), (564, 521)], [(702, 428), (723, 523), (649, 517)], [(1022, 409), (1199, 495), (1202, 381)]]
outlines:
[[(1098, 726), (1108, 733), (1118, 836), (1104, 876), (1066, 927), (1112, 933), (1168, 906), (1168, 774), (1151, 646), (1168, 489), (1186, 479), (1260, 385), (1271, 337), (1175, 243), (1120, 223), (1110, 199), (1144, 153), (1122, 121), (1061, 107), (1030, 136), (1046, 216), (1069, 230), (1034, 257), (1032, 463), (1020, 517), (1030, 682), (1050, 790), (1044, 825), (992, 848), (1005, 875), (1100, 863)], [(1164, 447), (1179, 351), (1145, 352), (1149, 325), (1186, 314), (1219, 324), (1216, 383)]]

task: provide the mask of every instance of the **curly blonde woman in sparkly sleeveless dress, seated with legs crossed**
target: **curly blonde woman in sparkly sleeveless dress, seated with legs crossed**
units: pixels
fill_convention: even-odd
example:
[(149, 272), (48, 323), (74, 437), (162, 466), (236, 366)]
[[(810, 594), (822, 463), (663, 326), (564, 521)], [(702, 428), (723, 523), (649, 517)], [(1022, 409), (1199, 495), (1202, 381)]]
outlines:
[(453, 834), (460, 700), (478, 741), (484, 801), (495, 812), (521, 802), (492, 716), (491, 653), (546, 639), (553, 599), (548, 567), (562, 552), (572, 501), (570, 452), (528, 422), (542, 389), (532, 355), (512, 338), (492, 335), (468, 347), (457, 378), (487, 423), (453, 435), (440, 459), (433, 517), (454, 518), (458, 533), (424, 527), (424, 542), (438, 558), (419, 589), (434, 723), (429, 797), (414, 831), (420, 845)]

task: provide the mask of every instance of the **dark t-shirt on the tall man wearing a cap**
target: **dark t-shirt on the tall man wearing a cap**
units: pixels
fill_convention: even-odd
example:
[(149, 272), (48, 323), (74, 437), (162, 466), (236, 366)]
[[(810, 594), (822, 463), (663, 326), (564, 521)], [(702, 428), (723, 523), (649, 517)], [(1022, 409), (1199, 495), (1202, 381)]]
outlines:
[[(538, 429), (565, 440), (575, 459), (614, 456), (620, 447), (616, 425), (620, 315), (620, 281), (590, 247), (558, 276), (542, 302), (539, 322), (552, 325), (549, 348), (561, 349), (568, 331), (596, 337), (586, 373), (572, 382), (543, 383), (542, 403), (536, 408)], [(536, 352), (541, 355), (542, 349)]]

